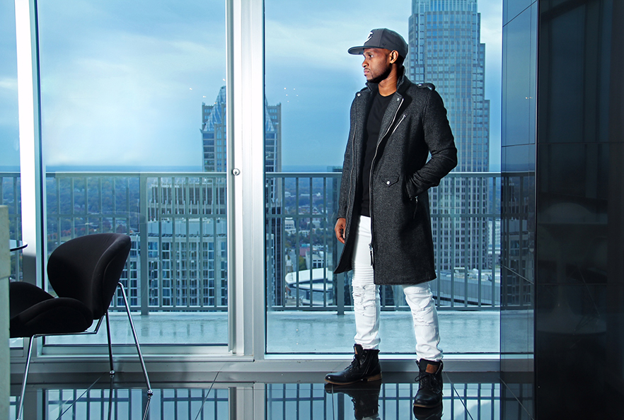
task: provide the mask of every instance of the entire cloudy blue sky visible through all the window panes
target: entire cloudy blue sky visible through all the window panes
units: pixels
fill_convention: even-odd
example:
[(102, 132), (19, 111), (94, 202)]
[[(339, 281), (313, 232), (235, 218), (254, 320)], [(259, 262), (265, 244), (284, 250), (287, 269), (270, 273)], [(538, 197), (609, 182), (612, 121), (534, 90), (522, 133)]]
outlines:
[[(225, 84), (224, 1), (40, 0), (42, 147), (50, 168), (201, 170), (201, 105)], [(411, 1), (265, 0), (265, 81), (285, 169), (342, 165), (372, 28), (408, 37)], [(502, 1), (480, 0), (499, 169)], [(0, 168), (18, 165), (13, 1), (0, 0)], [(13, 21), (11, 21), (13, 19)]]

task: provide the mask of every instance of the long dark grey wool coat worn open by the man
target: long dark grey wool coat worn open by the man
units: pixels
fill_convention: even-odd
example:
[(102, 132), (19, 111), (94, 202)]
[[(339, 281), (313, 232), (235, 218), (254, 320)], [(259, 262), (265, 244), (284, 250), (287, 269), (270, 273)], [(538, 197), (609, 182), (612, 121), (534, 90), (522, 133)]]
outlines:
[[(403, 70), (404, 74), (404, 70)], [(347, 219), (345, 247), (335, 273), (352, 269), (359, 214), (354, 214), (360, 177), (371, 182), (372, 260), (376, 284), (419, 284), (435, 279), (429, 216), (430, 187), (457, 165), (446, 109), (429, 83), (415, 85), (401, 76), (383, 115), (370, 174), (362, 174), (364, 132), (371, 98), (378, 86), (367, 83), (351, 105), (351, 129), (338, 218)], [(431, 159), (427, 156), (431, 153)]]

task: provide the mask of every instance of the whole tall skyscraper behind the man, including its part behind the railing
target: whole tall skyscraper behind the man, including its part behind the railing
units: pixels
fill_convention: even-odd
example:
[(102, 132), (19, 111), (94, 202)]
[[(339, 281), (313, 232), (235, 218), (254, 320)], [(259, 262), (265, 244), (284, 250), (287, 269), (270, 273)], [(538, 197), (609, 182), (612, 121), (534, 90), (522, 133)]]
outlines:
[[(458, 149), (456, 172), (490, 168), (490, 100), (485, 99), (485, 44), (480, 41), (477, 0), (412, 0), (410, 56), (405, 66), (415, 83), (434, 83), (448, 110)], [(461, 177), (432, 189), (432, 212), (484, 211), (489, 185)], [(480, 218), (432, 221), (441, 269), (487, 268), (487, 224)], [(465, 242), (459, 243), (461, 238)]]

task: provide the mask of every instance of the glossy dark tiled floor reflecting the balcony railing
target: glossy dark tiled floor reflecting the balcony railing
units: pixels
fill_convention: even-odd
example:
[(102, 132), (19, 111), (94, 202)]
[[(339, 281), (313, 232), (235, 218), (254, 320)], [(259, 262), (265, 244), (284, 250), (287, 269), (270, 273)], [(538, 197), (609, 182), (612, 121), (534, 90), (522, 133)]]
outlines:
[[(414, 411), (413, 373), (388, 374), (383, 380), (336, 387), (318, 373), (261, 375), (261, 380), (221, 383), (153, 382), (148, 397), (139, 382), (117, 375), (91, 383), (29, 385), (24, 419), (532, 419), (525, 407), (531, 387), (502, 380), (497, 373), (444, 373), (440, 407)], [(267, 380), (279, 376), (279, 382)], [(251, 378), (253, 379), (253, 378)], [(320, 378), (322, 380), (322, 377)], [(11, 388), (11, 419), (16, 418), (18, 385)], [(522, 402), (522, 404), (521, 404)], [(528, 404), (527, 404), (528, 402)]]

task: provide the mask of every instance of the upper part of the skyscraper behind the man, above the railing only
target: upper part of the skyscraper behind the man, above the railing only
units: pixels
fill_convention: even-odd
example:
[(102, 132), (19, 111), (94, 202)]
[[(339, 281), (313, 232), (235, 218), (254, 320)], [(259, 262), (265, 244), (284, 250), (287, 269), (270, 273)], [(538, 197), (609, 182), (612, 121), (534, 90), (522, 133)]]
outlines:
[(412, 0), (409, 76), (434, 83), (449, 110), (457, 172), (490, 168), (490, 100), (477, 0)]

